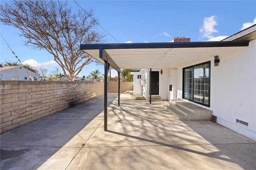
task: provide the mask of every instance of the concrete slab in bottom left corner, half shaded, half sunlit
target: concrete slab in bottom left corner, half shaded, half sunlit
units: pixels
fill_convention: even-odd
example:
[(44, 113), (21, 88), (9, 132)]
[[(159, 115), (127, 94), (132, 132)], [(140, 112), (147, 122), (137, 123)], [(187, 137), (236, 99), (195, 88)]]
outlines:
[(80, 149), (1, 147), (1, 170), (64, 170)]

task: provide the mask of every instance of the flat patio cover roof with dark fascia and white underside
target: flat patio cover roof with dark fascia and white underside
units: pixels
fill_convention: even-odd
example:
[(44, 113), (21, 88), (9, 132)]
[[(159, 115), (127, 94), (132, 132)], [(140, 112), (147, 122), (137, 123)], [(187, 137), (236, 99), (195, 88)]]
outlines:
[[(247, 29), (246, 29), (247, 30)], [(243, 32), (245, 32), (244, 30)], [(177, 43), (103, 43), (81, 44), (80, 49), (116, 70), (172, 68), (195, 60), (224, 55), (246, 48), (250, 40)]]

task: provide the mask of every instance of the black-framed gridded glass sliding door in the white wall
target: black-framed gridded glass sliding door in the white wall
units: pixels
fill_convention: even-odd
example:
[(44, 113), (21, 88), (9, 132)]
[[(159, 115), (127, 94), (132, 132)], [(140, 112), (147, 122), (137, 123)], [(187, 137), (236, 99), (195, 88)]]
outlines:
[(183, 98), (210, 107), (210, 61), (183, 68)]

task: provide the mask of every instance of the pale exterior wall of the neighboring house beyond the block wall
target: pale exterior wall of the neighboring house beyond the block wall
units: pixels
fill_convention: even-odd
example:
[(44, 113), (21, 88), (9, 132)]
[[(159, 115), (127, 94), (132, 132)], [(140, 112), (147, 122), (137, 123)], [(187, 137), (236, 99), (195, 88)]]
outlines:
[[(24, 67), (21, 67), (21, 69), (20, 67), (5, 69), (5, 70), (1, 70), (0, 73), (4, 73), (4, 80), (12, 80), (12, 76), (16, 76), (16, 77), (19, 77), (20, 81), (29, 81), (30, 80), (29, 76), (31, 75), (33, 79), (36, 78), (38, 81), (40, 81), (38, 74), (28, 69), (24, 69)], [(27, 79), (25, 79), (25, 77), (27, 77)]]

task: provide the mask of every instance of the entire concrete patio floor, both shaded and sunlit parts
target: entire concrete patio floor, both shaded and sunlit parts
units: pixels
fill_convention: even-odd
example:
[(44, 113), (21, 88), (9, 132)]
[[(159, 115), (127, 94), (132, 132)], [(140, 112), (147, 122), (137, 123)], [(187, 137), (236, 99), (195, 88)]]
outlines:
[[(256, 142), (210, 121), (178, 121), (159, 102), (108, 95), (1, 134), (1, 170), (256, 169)], [(113, 104), (112, 104), (112, 101)]]

